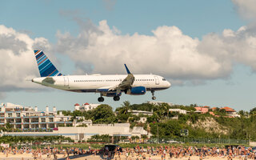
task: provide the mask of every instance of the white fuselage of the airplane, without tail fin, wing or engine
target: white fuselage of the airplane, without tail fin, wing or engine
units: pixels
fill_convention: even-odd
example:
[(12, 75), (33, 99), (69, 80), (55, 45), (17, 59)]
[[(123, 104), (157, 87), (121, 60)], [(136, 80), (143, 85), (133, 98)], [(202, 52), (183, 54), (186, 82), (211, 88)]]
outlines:
[[(50, 86), (59, 90), (74, 92), (106, 92), (111, 86), (118, 86), (127, 74), (117, 75), (68, 75), (54, 76), (52, 82), (46, 81), (46, 77), (33, 78), (32, 82), (43, 86)], [(146, 90), (165, 90), (170, 87), (170, 82), (165, 78), (154, 74), (134, 74), (134, 86), (144, 86)]]

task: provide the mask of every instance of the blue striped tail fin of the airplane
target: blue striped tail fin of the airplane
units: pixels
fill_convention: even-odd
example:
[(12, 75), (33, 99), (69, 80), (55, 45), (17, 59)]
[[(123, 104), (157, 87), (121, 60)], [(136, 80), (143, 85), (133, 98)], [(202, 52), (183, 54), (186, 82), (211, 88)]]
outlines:
[(38, 62), (38, 70), (41, 77), (61, 76), (53, 63), (46, 57), (42, 50), (34, 50), (34, 56)]

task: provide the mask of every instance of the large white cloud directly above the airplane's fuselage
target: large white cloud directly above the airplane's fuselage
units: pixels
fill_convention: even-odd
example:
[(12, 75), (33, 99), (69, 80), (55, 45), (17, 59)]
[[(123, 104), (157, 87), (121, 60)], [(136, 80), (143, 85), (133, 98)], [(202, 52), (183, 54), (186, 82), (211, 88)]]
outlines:
[(182, 34), (176, 26), (159, 26), (152, 31), (153, 36), (120, 35), (114, 30), (104, 20), (99, 22), (97, 32), (82, 30), (78, 37), (58, 32), (58, 50), (77, 62), (78, 70), (92, 68), (94, 73), (125, 73), (124, 63), (137, 74), (152, 72), (186, 80), (222, 78), (231, 71), (230, 63), (199, 52), (202, 42)]

